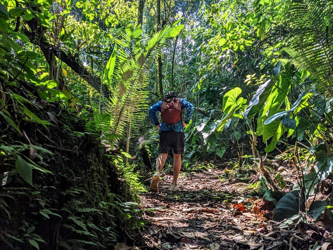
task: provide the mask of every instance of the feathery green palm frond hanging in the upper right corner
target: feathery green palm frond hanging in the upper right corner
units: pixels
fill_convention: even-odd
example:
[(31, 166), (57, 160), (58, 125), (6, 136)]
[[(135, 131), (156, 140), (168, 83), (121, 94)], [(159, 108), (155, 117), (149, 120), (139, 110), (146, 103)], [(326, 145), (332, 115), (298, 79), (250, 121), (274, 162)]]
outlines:
[(333, 96), (333, 1), (293, 0), (291, 44), (285, 51), (318, 79), (318, 91)]

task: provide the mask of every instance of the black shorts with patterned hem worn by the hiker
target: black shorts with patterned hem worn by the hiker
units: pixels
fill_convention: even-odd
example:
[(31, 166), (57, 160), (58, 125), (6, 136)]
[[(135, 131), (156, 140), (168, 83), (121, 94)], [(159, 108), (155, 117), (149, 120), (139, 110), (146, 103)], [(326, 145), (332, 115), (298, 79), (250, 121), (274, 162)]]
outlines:
[(160, 153), (184, 153), (184, 133), (175, 131), (160, 131)]

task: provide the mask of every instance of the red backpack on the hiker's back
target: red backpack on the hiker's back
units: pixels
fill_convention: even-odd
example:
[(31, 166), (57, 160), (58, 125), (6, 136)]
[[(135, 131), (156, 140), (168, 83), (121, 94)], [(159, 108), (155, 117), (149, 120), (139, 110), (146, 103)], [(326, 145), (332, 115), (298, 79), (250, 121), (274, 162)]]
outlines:
[(161, 105), (162, 121), (176, 123), (181, 120), (181, 103), (177, 97), (164, 99)]

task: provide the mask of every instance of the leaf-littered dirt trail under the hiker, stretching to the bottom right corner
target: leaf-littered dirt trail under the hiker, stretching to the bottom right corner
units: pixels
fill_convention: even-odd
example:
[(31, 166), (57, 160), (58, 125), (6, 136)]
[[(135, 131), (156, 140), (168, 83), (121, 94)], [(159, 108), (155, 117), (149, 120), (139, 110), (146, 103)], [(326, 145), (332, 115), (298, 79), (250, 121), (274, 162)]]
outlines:
[[(151, 224), (136, 235), (135, 245), (140, 248), (133, 249), (298, 250), (325, 242), (324, 233), (311, 235), (308, 231), (304, 236), (300, 226), (279, 228), (280, 223), (254, 214), (255, 198), (244, 192), (249, 184), (222, 182), (219, 176), (223, 173), (219, 169), (181, 173), (181, 191), (176, 193), (170, 191), (172, 175), (162, 175), (159, 193), (141, 195), (143, 216)], [(237, 208), (238, 203), (243, 206)]]

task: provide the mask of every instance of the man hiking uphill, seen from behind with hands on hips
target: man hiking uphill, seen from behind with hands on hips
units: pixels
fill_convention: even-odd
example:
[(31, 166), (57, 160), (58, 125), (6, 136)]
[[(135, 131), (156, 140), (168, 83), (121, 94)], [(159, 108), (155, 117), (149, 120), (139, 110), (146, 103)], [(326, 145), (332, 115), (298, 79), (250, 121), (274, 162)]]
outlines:
[[(181, 117), (181, 111), (186, 110), (184, 121)], [(161, 112), (162, 122), (160, 123), (156, 117), (156, 113)], [(166, 162), (168, 154), (173, 151), (173, 180), (171, 191), (179, 190), (177, 187), (177, 179), (181, 167), (181, 154), (184, 153), (184, 127), (187, 126), (193, 114), (193, 105), (188, 101), (177, 98), (173, 91), (166, 93), (166, 98), (159, 101), (149, 109), (149, 115), (155, 126), (160, 131), (160, 155), (156, 160), (156, 173), (153, 176), (150, 190), (158, 192), (160, 174)]]

